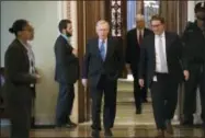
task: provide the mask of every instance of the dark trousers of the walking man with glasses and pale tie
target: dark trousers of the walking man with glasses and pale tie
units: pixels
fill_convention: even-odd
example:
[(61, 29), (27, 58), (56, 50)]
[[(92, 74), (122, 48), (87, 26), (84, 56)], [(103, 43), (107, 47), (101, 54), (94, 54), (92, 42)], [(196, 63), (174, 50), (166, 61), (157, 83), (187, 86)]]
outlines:
[(152, 81), (151, 97), (153, 117), (158, 129), (166, 129), (166, 120), (171, 120), (178, 103), (179, 82), (168, 73), (156, 73)]

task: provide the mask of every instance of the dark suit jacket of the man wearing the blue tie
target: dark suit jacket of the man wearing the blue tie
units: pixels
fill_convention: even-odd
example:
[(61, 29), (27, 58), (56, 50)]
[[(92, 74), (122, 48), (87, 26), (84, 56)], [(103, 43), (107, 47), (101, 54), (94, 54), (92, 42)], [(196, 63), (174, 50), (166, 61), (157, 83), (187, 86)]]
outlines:
[(82, 78), (89, 79), (89, 85), (96, 87), (101, 74), (105, 74), (111, 81), (116, 81), (123, 70), (124, 58), (122, 39), (107, 38), (105, 61), (102, 60), (99, 50), (99, 38), (90, 39), (86, 47)]

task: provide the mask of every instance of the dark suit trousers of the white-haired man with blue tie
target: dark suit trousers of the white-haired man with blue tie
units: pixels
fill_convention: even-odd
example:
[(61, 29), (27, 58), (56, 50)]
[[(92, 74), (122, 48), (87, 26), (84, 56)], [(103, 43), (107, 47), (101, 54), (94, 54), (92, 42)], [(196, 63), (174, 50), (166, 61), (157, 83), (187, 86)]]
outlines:
[(116, 114), (116, 80), (111, 81), (102, 76), (96, 87), (90, 88), (92, 99), (92, 129), (101, 130), (101, 104), (104, 94), (103, 125), (110, 129)]

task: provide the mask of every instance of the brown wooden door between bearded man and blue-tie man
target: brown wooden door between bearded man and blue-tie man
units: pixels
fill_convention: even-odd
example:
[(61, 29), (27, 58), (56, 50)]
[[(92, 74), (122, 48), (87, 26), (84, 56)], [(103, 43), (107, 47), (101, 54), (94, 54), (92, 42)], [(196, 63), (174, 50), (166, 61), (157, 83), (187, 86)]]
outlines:
[[(78, 20), (78, 56), (80, 61), (80, 71), (84, 47), (89, 38), (96, 36), (95, 24), (104, 18), (104, 1), (77, 1), (77, 20)], [(91, 99), (89, 90), (84, 89), (82, 83), (78, 83), (78, 113), (79, 123), (88, 122), (91, 118)]]

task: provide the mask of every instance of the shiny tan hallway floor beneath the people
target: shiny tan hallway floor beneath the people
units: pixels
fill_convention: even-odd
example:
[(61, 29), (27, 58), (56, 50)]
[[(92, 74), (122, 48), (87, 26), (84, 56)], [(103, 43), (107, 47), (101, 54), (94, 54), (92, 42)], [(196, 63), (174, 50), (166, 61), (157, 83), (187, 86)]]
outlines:
[[(90, 137), (90, 122), (80, 124), (75, 129), (33, 129), (31, 131), (31, 136), (32, 138)], [(203, 138), (203, 131), (201, 128), (181, 127), (178, 126), (179, 123), (174, 120), (173, 124), (174, 138)], [(1, 137), (7, 138), (9, 136), (8, 131), (9, 129), (3, 128), (1, 131)], [(141, 115), (135, 114), (134, 105), (130, 103), (121, 103), (117, 105), (117, 116), (115, 127), (113, 128), (113, 137), (153, 138), (156, 133), (150, 103), (144, 105)], [(103, 130), (101, 136), (103, 137)]]

